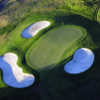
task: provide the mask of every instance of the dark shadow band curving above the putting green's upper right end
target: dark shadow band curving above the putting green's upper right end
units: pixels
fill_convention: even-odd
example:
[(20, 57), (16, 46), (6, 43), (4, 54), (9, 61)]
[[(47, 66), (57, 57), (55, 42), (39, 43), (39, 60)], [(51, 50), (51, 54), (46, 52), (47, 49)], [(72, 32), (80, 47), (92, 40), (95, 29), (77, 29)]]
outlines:
[(91, 35), (94, 43), (97, 45), (100, 45), (100, 24), (96, 21), (91, 21), (85, 17), (82, 17), (80, 15), (62, 15), (62, 16), (56, 16), (54, 18), (56, 20), (56, 23), (64, 23), (64, 24), (72, 24), (72, 25), (79, 25), (87, 29), (89, 34)]

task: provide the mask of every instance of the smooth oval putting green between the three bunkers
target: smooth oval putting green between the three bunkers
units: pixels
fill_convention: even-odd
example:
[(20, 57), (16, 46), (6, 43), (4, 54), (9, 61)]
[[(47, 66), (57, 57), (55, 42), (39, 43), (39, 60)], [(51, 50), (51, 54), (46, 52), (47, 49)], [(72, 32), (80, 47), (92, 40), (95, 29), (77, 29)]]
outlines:
[(62, 60), (65, 51), (86, 33), (84, 28), (63, 25), (42, 36), (27, 52), (26, 61), (34, 69), (41, 69)]

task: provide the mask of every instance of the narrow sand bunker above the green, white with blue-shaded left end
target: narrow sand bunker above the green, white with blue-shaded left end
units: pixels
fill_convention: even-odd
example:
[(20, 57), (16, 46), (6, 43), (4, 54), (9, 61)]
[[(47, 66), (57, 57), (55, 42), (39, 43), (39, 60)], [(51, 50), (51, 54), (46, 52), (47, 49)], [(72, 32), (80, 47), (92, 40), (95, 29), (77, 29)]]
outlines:
[(51, 23), (49, 21), (39, 21), (31, 26), (27, 27), (23, 32), (22, 32), (22, 37), (24, 38), (32, 38), (35, 36), (40, 30), (48, 27)]

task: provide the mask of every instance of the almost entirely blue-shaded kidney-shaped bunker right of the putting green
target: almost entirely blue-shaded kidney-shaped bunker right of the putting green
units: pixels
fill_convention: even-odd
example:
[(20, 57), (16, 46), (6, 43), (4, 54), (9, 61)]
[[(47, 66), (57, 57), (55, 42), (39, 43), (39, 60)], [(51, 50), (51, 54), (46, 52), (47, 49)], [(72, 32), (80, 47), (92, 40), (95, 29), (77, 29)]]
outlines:
[(65, 72), (79, 74), (87, 71), (94, 62), (94, 53), (87, 48), (78, 49), (73, 59), (64, 66)]

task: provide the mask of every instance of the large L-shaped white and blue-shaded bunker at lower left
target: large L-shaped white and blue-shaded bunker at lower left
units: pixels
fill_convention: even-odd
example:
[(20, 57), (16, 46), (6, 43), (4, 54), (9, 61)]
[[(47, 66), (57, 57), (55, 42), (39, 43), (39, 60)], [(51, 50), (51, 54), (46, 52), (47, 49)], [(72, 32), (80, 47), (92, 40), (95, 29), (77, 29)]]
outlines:
[(0, 57), (0, 69), (3, 72), (3, 81), (11, 87), (25, 88), (32, 85), (35, 77), (32, 74), (23, 73), (17, 65), (18, 56), (14, 53), (6, 53)]

